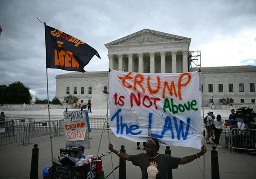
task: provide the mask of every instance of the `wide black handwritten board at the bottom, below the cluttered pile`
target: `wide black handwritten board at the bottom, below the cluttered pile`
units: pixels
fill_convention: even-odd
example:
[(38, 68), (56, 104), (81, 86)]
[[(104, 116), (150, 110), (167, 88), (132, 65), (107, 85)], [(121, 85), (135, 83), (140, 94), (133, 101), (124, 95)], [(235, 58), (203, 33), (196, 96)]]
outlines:
[(70, 167), (53, 163), (49, 170), (50, 179), (87, 179), (87, 166)]

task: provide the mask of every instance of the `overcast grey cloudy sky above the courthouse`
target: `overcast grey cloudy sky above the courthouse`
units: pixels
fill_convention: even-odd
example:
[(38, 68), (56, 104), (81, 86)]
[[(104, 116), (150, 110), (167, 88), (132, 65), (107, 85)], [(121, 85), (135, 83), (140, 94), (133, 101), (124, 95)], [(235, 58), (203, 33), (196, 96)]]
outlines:
[[(256, 65), (256, 0), (0, 0), (0, 85), (47, 99), (44, 25), (94, 47), (86, 71), (107, 71), (104, 44), (143, 29), (191, 38), (201, 66)], [(56, 75), (48, 69), (49, 99)]]

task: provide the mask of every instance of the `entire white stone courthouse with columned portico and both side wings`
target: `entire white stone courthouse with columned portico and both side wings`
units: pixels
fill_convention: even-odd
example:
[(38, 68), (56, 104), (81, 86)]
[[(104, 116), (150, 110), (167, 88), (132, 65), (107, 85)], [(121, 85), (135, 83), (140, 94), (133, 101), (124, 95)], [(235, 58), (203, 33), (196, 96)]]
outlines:
[[(191, 39), (144, 29), (105, 44), (109, 68), (140, 73), (183, 73), (193, 68)], [(199, 66), (200, 67), (200, 64)], [(255, 107), (256, 66), (201, 67), (204, 106), (222, 103), (231, 97), (237, 107)], [(91, 100), (92, 108), (107, 108), (108, 71), (70, 72), (56, 77), (56, 97), (63, 102), (72, 94), (82, 105)]]

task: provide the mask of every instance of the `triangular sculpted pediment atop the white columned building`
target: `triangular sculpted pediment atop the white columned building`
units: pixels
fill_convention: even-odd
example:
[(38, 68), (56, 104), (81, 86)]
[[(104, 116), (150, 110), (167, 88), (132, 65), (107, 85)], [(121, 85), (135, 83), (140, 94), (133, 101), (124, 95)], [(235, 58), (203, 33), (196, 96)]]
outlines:
[(129, 36), (112, 41), (105, 46), (146, 44), (157, 42), (191, 41), (190, 38), (144, 29)]

